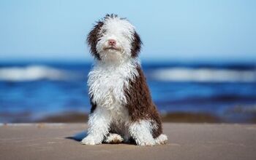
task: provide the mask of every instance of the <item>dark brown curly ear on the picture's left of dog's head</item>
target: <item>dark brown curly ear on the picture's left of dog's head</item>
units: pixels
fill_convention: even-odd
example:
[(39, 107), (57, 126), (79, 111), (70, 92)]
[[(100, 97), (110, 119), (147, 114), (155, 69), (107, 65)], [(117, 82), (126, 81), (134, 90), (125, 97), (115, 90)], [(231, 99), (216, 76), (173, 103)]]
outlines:
[(99, 53), (97, 52), (96, 46), (99, 40), (99, 31), (102, 28), (103, 22), (99, 21), (94, 28), (89, 32), (87, 36), (87, 43), (90, 47), (91, 54), (94, 55), (98, 60), (100, 60)]

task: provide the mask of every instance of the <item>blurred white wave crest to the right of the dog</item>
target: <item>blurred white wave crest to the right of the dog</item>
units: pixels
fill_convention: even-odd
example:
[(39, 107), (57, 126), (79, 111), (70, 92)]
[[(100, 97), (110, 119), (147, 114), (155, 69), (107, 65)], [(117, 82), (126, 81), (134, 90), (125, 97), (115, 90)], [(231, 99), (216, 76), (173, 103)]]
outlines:
[(151, 73), (159, 81), (256, 82), (256, 71), (213, 68), (162, 68)]

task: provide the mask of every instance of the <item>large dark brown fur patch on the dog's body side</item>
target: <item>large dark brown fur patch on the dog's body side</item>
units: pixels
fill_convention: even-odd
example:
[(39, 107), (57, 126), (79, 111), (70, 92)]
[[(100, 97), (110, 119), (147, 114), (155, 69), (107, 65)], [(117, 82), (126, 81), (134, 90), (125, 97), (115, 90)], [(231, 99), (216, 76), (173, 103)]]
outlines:
[(126, 107), (128, 108), (132, 121), (150, 119), (157, 124), (157, 129), (154, 129), (152, 132), (153, 137), (156, 138), (162, 134), (162, 121), (151, 99), (146, 78), (140, 66), (137, 67), (137, 70), (139, 76), (136, 77), (135, 81), (129, 81), (129, 89), (125, 89), (127, 98)]

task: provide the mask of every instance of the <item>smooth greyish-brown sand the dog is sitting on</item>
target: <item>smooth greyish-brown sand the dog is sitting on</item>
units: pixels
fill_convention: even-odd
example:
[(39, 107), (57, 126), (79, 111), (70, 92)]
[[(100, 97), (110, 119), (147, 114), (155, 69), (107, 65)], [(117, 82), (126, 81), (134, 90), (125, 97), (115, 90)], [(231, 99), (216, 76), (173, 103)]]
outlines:
[(1, 124), (0, 159), (256, 159), (255, 124), (165, 123), (167, 145), (81, 145), (86, 124)]

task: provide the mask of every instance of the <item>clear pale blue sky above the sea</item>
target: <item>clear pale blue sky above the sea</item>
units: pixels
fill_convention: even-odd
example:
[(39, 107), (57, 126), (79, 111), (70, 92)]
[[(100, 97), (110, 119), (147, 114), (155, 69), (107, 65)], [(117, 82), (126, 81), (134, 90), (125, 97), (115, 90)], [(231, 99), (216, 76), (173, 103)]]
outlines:
[(0, 60), (91, 60), (86, 35), (115, 13), (143, 60), (256, 62), (256, 1), (0, 1)]

